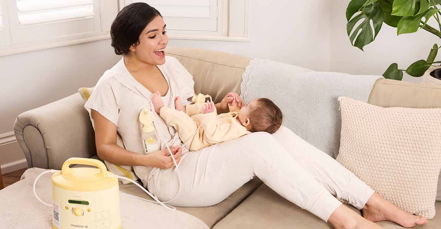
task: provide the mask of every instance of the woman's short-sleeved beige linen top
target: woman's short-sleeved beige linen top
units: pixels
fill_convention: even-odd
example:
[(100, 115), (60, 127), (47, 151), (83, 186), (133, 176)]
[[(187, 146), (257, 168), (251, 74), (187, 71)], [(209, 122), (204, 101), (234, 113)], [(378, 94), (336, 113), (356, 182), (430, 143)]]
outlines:
[[(187, 98), (194, 95), (193, 76), (181, 63), (173, 57), (166, 56), (164, 65), (157, 65), (168, 83), (168, 94), (164, 104), (175, 109), (174, 98), (180, 96), (184, 105), (187, 105)], [(164, 120), (154, 112), (151, 102), (152, 93), (140, 84), (129, 73), (124, 58), (107, 70), (90, 95), (84, 107), (90, 115), (93, 123), (91, 109), (96, 110), (106, 119), (116, 125), (116, 131), (121, 135), (124, 146), (127, 150), (135, 153), (142, 153), (141, 124), (138, 120), (139, 112), (142, 109), (153, 111), (153, 124), (160, 138), (161, 149), (166, 149), (165, 142), (169, 146), (181, 144), (179, 134), (172, 126), (168, 126)], [(183, 149), (183, 152), (188, 149)], [(144, 186), (147, 185), (153, 167), (134, 166), (135, 174), (141, 179)], [(150, 175), (149, 175), (150, 174)]]

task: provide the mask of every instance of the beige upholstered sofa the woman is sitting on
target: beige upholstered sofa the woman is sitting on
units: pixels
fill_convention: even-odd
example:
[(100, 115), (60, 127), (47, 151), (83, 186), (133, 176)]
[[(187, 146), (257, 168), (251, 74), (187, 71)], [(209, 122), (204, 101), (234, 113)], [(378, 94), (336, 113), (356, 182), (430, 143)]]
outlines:
[[(214, 102), (220, 102), (230, 91), (240, 94), (242, 74), (251, 59), (220, 51), (184, 47), (168, 47), (166, 53), (177, 58), (193, 75), (195, 93), (209, 94)], [(441, 86), (379, 79), (368, 102), (382, 107), (429, 108), (441, 107), (440, 98)], [(89, 114), (83, 105), (81, 96), (75, 93), (17, 117), (15, 136), (29, 168), (59, 170), (70, 157), (99, 159)], [(120, 184), (120, 191), (151, 199), (134, 184)], [(435, 206), (437, 212), (441, 212), (441, 202), (437, 201)], [(361, 214), (355, 207), (348, 207)], [(219, 204), (176, 209), (194, 215), (213, 229), (330, 228), (318, 217), (279, 196), (258, 177), (245, 183)], [(386, 229), (402, 228), (392, 222), (378, 224)], [(415, 228), (441, 228), (441, 214), (437, 214), (427, 225)]]

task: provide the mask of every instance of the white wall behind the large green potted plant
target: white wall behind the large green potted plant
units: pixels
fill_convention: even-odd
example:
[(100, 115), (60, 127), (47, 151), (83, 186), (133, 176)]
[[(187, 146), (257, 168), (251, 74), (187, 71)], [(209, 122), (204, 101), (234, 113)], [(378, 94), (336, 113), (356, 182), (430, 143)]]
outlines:
[[(399, 69), (407, 69), (413, 62), (426, 59), (435, 43), (441, 44), (437, 36), (426, 31), (396, 36), (396, 28), (383, 24), (377, 38), (363, 52), (351, 45), (346, 32), (345, 12), (349, 2), (333, 0), (329, 71), (381, 75), (392, 63), (398, 63)], [(419, 83), (421, 77), (404, 73), (403, 80)]]

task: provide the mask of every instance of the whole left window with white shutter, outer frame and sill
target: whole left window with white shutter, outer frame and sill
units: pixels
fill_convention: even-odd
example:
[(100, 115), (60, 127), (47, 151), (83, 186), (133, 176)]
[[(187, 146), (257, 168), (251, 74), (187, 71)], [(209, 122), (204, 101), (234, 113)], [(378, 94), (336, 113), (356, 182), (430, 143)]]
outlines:
[(118, 0), (0, 1), (0, 56), (106, 39), (101, 4), (118, 4)]

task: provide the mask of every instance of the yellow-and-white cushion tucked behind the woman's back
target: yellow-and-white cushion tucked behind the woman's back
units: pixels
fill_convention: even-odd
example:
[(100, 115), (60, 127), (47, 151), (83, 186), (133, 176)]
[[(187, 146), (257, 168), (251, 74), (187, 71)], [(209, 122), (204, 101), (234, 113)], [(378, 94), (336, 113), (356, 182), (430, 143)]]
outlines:
[[(94, 87), (82, 87), (80, 89), (78, 89), (78, 93), (81, 95), (81, 98), (84, 100), (84, 103), (87, 102), (87, 100), (89, 100), (90, 95), (92, 95)], [(92, 123), (93, 126), (93, 123)], [(93, 129), (95, 130), (95, 127), (93, 127)], [(120, 147), (123, 147), (124, 149), (126, 147), (124, 147), (124, 143), (123, 143), (123, 139), (121, 138), (121, 135), (119, 133), (116, 133), (116, 145), (119, 145)], [(129, 179), (132, 179), (134, 181), (138, 180), (138, 176), (136, 176), (135, 171), (133, 170), (132, 166), (126, 166), (126, 165), (116, 165), (116, 164), (112, 164), (108, 161), (104, 161), (104, 163), (106, 164), (106, 167), (108, 169), (108, 171), (111, 171), (113, 174), (116, 174), (118, 176), (122, 176), (122, 177), (127, 177)], [(128, 184), (131, 183), (130, 181), (127, 180), (123, 180), (123, 179), (118, 179), (120, 182), (122, 182), (123, 184)]]

